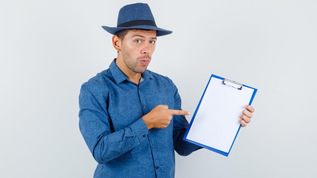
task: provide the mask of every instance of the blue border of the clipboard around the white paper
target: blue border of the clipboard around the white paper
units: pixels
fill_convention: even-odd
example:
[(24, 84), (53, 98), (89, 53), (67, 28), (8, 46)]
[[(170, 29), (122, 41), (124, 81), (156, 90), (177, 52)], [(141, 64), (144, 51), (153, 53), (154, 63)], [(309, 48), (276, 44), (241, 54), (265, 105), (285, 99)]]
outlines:
[[(198, 108), (199, 108), (199, 106), (200, 106), (200, 103), (201, 103), (201, 101), (202, 101), (203, 98), (204, 98), (204, 94), (205, 94), (205, 92), (206, 92), (206, 89), (208, 88), (208, 85), (209, 85), (209, 82), (210, 82), (210, 80), (211, 80), (211, 77), (215, 77), (215, 78), (219, 78), (219, 79), (221, 79), (221, 80), (224, 80), (223, 77), (219, 77), (219, 76), (216, 76), (216, 75), (214, 75), (214, 74), (211, 74), (211, 76), (210, 76), (210, 78), (209, 78), (209, 81), (208, 81), (208, 83), (207, 83), (207, 86), (206, 86), (206, 88), (205, 88), (205, 90), (204, 90), (204, 93), (203, 93), (203, 95), (201, 96), (201, 99), (200, 99), (200, 101), (199, 101), (199, 103), (198, 103), (198, 106), (197, 106), (197, 108), (196, 108), (196, 110), (195, 110), (195, 113), (194, 113), (193, 117), (191, 118), (191, 122), (190, 122), (190, 124), (189, 124), (189, 126), (188, 126), (188, 128), (187, 128), (187, 130), (186, 130), (186, 132), (185, 132), (185, 135), (184, 135), (184, 137), (183, 137), (183, 140), (185, 140), (185, 141), (187, 141), (187, 142), (190, 142), (190, 143), (192, 143), (192, 144), (196, 144), (196, 145), (198, 145), (198, 146), (204, 147), (204, 148), (206, 148), (206, 149), (208, 149), (208, 150), (215, 151), (215, 152), (217, 152), (217, 153), (219, 153), (219, 154), (222, 154), (222, 155), (228, 157), (228, 155), (229, 155), (229, 153), (230, 153), (230, 150), (231, 150), (231, 148), (232, 148), (232, 146), (233, 146), (233, 143), (235, 142), (236, 137), (237, 137), (237, 135), (238, 135), (238, 133), (239, 133), (239, 130), (240, 130), (240, 128), (241, 128), (241, 124), (240, 124), (239, 129), (238, 129), (238, 131), (237, 131), (237, 133), (236, 133), (235, 138), (233, 139), (233, 142), (232, 142), (232, 144), (231, 144), (231, 147), (230, 147), (230, 150), (229, 150), (228, 153), (227, 153), (227, 152), (224, 152), (224, 151), (221, 151), (221, 150), (217, 150), (217, 149), (215, 149), (215, 148), (209, 147), (209, 146), (204, 145), (204, 144), (200, 144), (200, 143), (194, 142), (194, 141), (189, 140), (189, 139), (186, 138), (187, 135), (188, 135), (189, 130), (191, 129), (191, 124), (193, 123), (193, 121), (194, 121), (194, 119), (195, 119), (195, 116), (196, 116), (196, 113), (197, 113)], [(252, 87), (249, 87), (249, 86), (247, 86), (247, 85), (242, 85), (242, 86), (248, 87), (248, 88), (251, 88), (251, 89), (254, 89), (254, 92), (253, 92), (252, 97), (251, 97), (250, 102), (249, 102), (249, 105), (251, 105), (251, 103), (252, 103), (252, 101), (253, 101), (253, 98), (254, 98), (254, 96), (256, 95), (257, 89), (252, 88)]]

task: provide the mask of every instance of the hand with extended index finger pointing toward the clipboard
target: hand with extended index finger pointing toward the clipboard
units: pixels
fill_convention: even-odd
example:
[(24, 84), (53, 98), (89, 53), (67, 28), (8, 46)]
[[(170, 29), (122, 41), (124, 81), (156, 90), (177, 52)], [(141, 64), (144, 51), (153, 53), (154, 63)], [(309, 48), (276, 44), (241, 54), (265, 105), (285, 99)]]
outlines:
[(144, 115), (142, 119), (149, 130), (152, 128), (164, 129), (170, 124), (173, 115), (190, 114), (188, 111), (168, 109), (167, 105), (157, 105), (148, 114)]

